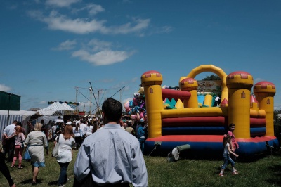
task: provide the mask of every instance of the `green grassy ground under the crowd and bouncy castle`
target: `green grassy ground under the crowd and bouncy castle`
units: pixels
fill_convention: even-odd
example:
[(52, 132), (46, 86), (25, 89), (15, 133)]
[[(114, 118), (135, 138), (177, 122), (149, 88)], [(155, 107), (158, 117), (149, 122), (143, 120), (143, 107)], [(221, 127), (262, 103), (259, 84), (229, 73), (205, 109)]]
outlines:
[[(53, 143), (50, 142), (50, 150)], [(50, 151), (51, 153), (51, 151)], [(74, 159), (70, 162), (67, 176), (70, 181), (66, 186), (72, 186), (74, 180), (73, 167), (77, 150), (74, 150)], [(266, 155), (259, 159), (248, 161), (237, 160), (236, 169), (239, 174), (233, 176), (230, 169), (226, 169), (224, 177), (218, 176), (222, 157), (218, 160), (190, 160), (180, 159), (177, 162), (167, 162), (166, 157), (145, 156), (148, 168), (148, 186), (281, 186), (281, 154), (277, 150), (273, 155)], [(31, 165), (22, 161), (23, 169), (11, 168), (11, 176), (17, 186), (32, 186)], [(37, 186), (57, 186), (60, 167), (55, 158), (46, 156), (46, 167), (39, 171)], [(8, 182), (0, 174), (0, 186), (8, 186)]]

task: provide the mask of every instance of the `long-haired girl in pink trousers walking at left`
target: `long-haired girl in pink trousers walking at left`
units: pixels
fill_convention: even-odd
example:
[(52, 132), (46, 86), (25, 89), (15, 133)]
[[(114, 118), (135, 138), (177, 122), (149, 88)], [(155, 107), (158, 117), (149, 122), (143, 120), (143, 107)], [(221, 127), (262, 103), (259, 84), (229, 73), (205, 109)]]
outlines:
[(15, 161), (18, 158), (18, 169), (22, 169), (22, 153), (23, 153), (23, 143), (25, 141), (25, 135), (22, 133), (22, 127), (16, 126), (14, 131), (15, 137), (15, 155), (13, 157), (13, 162), (11, 167), (15, 167)]

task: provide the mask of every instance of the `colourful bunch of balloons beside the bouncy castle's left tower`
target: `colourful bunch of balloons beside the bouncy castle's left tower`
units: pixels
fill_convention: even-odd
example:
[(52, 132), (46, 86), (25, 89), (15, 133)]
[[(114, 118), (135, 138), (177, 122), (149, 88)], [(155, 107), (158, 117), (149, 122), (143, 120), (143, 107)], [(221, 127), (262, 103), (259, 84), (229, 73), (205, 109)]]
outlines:
[(124, 108), (131, 119), (140, 120), (143, 118), (146, 115), (144, 94), (134, 93), (133, 100), (124, 103)]

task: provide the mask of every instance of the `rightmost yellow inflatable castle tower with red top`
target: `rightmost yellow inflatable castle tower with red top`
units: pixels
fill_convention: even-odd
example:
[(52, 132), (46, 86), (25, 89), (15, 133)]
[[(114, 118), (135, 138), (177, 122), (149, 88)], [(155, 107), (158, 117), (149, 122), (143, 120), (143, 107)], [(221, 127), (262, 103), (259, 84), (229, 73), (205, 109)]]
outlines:
[(259, 108), (266, 111), (266, 136), (274, 136), (273, 112), (276, 90), (271, 82), (258, 82), (254, 85), (254, 95), (259, 101)]

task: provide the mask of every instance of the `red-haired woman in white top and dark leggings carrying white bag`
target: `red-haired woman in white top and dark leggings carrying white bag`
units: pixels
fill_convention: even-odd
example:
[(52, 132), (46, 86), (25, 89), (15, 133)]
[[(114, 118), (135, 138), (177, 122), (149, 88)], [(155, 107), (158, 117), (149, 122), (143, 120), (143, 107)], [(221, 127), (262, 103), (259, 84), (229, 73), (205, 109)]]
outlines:
[[(62, 134), (58, 135), (58, 164), (60, 165), (60, 176), (58, 178), (58, 186), (65, 186), (67, 183), (67, 167), (72, 160), (72, 147), (75, 144), (73, 129), (71, 125), (66, 125)], [(57, 143), (55, 141), (55, 143)]]

